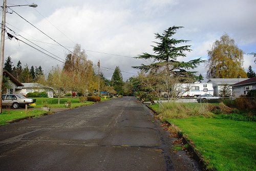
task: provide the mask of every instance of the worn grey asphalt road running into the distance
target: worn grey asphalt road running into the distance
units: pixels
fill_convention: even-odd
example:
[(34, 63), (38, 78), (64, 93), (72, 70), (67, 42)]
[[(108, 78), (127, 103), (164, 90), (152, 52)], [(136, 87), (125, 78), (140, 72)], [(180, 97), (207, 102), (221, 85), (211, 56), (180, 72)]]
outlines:
[(199, 170), (135, 97), (0, 126), (1, 170)]

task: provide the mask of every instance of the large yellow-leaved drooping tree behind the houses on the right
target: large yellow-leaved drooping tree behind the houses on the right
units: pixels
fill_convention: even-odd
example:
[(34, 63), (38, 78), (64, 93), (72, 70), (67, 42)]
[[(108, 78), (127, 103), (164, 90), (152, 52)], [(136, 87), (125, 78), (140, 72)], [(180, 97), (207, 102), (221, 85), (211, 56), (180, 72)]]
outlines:
[(244, 52), (228, 34), (216, 40), (208, 50), (207, 78), (246, 78), (243, 70)]

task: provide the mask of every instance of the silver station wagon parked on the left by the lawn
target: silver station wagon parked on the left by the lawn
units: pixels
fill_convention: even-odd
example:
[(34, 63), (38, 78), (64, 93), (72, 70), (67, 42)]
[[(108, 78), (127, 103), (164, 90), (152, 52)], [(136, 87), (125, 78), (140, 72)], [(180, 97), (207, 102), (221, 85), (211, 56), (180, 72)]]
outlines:
[(3, 94), (2, 106), (12, 106), (17, 109), (20, 107), (25, 108), (26, 103), (35, 105), (36, 99), (26, 98), (21, 94)]

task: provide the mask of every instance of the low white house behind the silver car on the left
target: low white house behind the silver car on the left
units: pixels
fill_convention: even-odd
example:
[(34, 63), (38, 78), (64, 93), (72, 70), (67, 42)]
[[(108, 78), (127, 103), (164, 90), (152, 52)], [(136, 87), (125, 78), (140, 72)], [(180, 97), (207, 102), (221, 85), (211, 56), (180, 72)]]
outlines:
[(17, 94), (23, 94), (27, 95), (28, 93), (34, 93), (34, 92), (47, 92), (48, 97), (53, 97), (53, 91), (49, 89), (45, 89), (42, 84), (39, 83), (23, 83), (23, 87), (17, 87), (15, 89), (15, 93)]

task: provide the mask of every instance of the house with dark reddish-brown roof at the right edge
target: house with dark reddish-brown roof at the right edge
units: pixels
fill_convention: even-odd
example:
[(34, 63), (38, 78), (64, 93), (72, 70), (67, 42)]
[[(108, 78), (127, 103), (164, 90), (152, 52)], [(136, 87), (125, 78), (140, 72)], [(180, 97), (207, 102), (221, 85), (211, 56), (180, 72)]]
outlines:
[(232, 86), (232, 96), (246, 95), (250, 90), (256, 90), (256, 77), (235, 83)]

